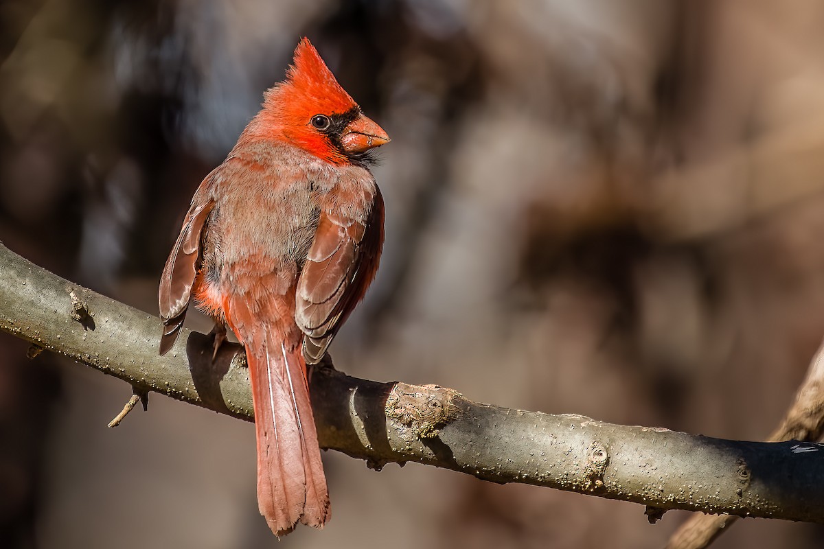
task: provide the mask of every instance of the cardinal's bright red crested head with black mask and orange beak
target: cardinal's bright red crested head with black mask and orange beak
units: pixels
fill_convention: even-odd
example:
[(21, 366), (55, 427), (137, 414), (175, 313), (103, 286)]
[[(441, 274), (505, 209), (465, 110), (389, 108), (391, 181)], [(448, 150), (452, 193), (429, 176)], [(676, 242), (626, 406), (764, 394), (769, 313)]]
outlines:
[(306, 38), (297, 44), (286, 80), (266, 91), (260, 116), (269, 136), (279, 134), (334, 164), (368, 163), (369, 151), (389, 142)]

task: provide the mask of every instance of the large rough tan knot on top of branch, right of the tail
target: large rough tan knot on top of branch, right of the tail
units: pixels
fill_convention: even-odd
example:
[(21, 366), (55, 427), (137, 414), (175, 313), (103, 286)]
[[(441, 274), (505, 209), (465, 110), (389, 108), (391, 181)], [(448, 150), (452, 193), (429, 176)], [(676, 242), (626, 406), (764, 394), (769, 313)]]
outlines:
[(408, 427), (419, 439), (433, 439), (460, 414), (461, 393), (438, 385), (398, 383), (386, 398), (386, 416)]

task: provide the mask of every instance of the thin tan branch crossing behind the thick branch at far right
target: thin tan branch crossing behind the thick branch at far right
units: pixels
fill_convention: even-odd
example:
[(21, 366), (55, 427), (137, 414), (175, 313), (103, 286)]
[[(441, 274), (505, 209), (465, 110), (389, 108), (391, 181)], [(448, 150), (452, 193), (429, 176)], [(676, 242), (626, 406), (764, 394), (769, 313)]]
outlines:
[[(767, 442), (820, 440), (824, 435), (824, 343), (810, 362), (807, 377), (795, 395), (784, 421)], [(667, 549), (704, 549), (740, 517), (728, 514), (694, 514), (681, 524)]]

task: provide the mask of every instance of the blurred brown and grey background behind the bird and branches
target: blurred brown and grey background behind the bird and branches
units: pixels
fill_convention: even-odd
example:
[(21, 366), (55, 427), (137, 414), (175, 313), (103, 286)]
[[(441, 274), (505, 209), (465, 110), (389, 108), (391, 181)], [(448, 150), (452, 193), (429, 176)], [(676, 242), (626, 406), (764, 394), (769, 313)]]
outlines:
[[(2, 0), (0, 240), (155, 314), (194, 188), (307, 35), (393, 139), (340, 370), (762, 439), (824, 334), (822, 28), (812, 0)], [(108, 430), (128, 385), (25, 353), (0, 337), (0, 546), (274, 547), (250, 424), (152, 395)], [(332, 521), (279, 547), (662, 547), (686, 517), (324, 459)]]

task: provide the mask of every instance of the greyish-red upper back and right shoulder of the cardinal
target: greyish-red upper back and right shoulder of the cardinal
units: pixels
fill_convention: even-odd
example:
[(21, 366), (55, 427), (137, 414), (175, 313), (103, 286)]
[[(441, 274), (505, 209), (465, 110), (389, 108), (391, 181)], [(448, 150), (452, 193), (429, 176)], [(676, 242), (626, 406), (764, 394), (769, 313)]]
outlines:
[(294, 285), (321, 211), (365, 222), (377, 193), (368, 170), (295, 156), (288, 147), (253, 148), (222, 168), (213, 182), (203, 271), (225, 291), (244, 291), (255, 277), (278, 293)]

